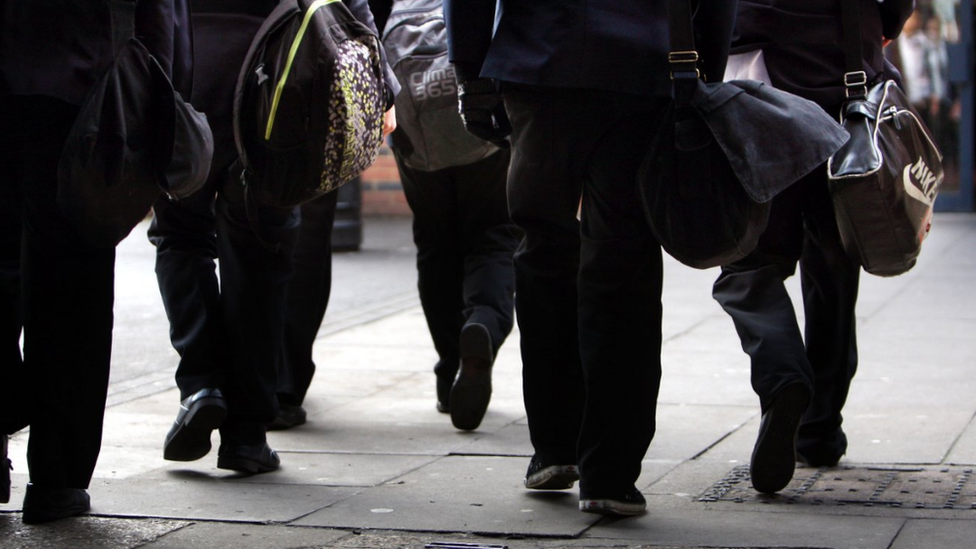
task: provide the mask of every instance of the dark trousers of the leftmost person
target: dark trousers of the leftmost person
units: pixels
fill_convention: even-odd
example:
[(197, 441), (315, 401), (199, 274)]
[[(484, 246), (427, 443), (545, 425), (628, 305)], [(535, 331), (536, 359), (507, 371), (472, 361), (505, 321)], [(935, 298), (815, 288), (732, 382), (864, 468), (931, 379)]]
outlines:
[(55, 201), (77, 113), (0, 97), (0, 432), (30, 426), (30, 479), (48, 488), (91, 481), (112, 353), (115, 248), (85, 244)]

